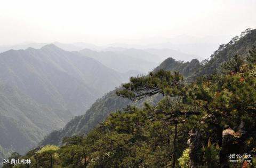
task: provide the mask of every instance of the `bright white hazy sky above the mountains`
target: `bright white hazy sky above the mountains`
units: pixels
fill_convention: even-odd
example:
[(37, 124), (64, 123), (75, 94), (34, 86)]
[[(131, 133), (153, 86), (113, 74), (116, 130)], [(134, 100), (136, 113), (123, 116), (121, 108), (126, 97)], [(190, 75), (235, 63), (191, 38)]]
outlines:
[(256, 28), (255, 0), (17, 0), (0, 3), (0, 45), (235, 36)]

